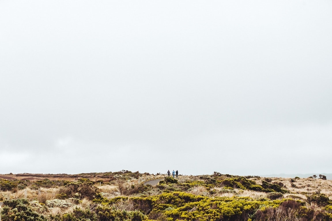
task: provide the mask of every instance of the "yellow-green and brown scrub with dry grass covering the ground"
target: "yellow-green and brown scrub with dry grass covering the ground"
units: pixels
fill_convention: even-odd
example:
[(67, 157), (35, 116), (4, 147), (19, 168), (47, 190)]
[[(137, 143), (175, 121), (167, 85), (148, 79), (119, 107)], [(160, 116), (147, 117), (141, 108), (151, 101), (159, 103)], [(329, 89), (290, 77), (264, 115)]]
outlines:
[[(109, 176), (109, 182), (0, 179), (1, 220), (332, 220), (332, 193), (321, 190), (322, 184), (330, 189), (331, 182), (323, 179), (318, 183), (314, 178), (278, 180), (215, 172), (163, 177), (153, 187), (140, 181), (161, 176), (130, 171)], [(313, 190), (316, 183), (321, 189)]]

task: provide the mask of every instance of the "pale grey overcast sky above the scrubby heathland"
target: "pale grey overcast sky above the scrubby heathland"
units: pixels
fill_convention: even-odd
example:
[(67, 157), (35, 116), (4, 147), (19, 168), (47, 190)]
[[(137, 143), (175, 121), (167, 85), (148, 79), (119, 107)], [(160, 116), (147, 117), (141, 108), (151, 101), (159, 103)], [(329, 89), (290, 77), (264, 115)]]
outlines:
[(332, 173), (332, 1), (0, 1), (0, 173)]

